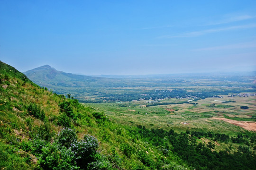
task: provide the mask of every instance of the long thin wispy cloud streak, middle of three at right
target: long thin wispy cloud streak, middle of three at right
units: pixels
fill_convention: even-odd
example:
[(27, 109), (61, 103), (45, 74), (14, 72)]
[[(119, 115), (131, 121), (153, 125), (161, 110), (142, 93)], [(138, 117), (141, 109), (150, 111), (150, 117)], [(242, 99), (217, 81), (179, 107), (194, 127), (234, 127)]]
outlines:
[(250, 25), (242, 25), (242, 26), (229, 26), (224, 28), (216, 28), (216, 29), (207, 29), (207, 30), (201, 30), (201, 31), (194, 31), (194, 32), (187, 32), (183, 34), (178, 35), (164, 35), (157, 38), (178, 38), (178, 37), (196, 37), (204, 34), (210, 34), (210, 33), (217, 33), (222, 31), (229, 31), (229, 30), (238, 30), (238, 29), (246, 29), (246, 28), (255, 28), (256, 24), (250, 24)]

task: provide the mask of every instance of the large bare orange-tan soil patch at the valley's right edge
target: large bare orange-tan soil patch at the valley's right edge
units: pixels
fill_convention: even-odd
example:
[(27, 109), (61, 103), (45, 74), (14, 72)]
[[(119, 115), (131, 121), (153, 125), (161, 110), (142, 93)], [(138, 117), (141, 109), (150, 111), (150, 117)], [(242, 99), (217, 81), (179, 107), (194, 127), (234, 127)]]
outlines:
[(237, 121), (237, 120), (231, 120), (231, 119), (226, 119), (226, 118), (210, 118), (210, 119), (223, 120), (223, 121), (226, 121), (226, 122), (231, 123), (233, 125), (243, 127), (244, 129), (247, 129), (247, 130), (256, 131), (256, 122)]

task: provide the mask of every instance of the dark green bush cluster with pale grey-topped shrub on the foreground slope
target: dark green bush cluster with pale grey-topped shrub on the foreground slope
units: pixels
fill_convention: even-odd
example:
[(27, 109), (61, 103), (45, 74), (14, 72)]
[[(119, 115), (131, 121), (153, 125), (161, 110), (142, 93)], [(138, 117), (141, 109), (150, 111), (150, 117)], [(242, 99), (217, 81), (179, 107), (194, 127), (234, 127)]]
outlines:
[[(31, 142), (29, 142), (30, 144)], [(110, 162), (97, 152), (98, 140), (85, 135), (78, 141), (76, 131), (63, 128), (53, 143), (37, 138), (32, 144), (22, 144), (39, 158), (39, 165), (44, 170), (105, 170)]]

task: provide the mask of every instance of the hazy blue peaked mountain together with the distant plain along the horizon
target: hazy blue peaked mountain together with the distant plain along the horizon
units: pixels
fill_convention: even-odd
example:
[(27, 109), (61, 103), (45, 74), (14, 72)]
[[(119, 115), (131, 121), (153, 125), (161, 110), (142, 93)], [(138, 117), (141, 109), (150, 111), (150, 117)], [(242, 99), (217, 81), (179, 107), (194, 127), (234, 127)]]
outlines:
[[(58, 71), (49, 65), (41, 66), (28, 70), (24, 74), (37, 85), (52, 89), (58, 94), (70, 93), (77, 99), (87, 100), (89, 98), (103, 99), (102, 97), (110, 97), (112, 94), (131, 93), (141, 89), (141, 87), (166, 88), (176, 87), (176, 85), (186, 86), (187, 81), (205, 82), (206, 80), (214, 80), (221, 82), (243, 82), (252, 83), (255, 81), (255, 72), (250, 73), (233, 73), (233, 74), (173, 74), (173, 75), (144, 75), (144, 76), (85, 76), (72, 73)], [(219, 76), (217, 76), (219, 75)], [(247, 75), (247, 76), (242, 76)], [(253, 76), (250, 76), (253, 75)], [(212, 83), (212, 82), (210, 82)], [(220, 85), (219, 84), (219, 85)], [(198, 84), (200, 85), (200, 83)], [(222, 84), (221, 84), (222, 85)], [(220, 86), (221, 86), (220, 85)], [(135, 88), (137, 87), (137, 89)], [(121, 91), (118, 91), (122, 88)], [(129, 90), (128, 90), (129, 89)], [(134, 93), (134, 92), (133, 92)], [(143, 92), (141, 92), (143, 93)]]

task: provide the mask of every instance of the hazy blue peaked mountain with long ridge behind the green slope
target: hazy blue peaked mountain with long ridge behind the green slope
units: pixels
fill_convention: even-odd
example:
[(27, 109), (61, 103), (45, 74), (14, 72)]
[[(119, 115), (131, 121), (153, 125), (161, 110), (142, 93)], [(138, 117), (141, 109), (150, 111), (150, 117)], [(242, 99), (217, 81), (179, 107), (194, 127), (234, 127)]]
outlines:
[(118, 79), (65, 73), (49, 65), (28, 70), (24, 74), (37, 85), (53, 89), (58, 93), (67, 93), (69, 88), (73, 90), (83, 87), (114, 86), (119, 82)]

